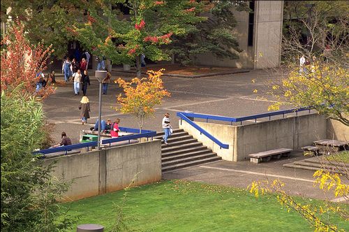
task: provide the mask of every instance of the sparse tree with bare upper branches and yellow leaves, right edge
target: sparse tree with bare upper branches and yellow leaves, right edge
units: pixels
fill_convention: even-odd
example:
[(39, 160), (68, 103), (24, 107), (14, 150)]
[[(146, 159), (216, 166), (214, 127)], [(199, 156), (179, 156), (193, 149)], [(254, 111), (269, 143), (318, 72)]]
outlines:
[[(270, 94), (277, 103), (269, 109), (310, 106), (349, 126), (348, 9), (343, 1), (286, 4), (284, 63), (274, 70), (278, 81), (270, 86)], [(302, 55), (306, 64), (299, 66)]]

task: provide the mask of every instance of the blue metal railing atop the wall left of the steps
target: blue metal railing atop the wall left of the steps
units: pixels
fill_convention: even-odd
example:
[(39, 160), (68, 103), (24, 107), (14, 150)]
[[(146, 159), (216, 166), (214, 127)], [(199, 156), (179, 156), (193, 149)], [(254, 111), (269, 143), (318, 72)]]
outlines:
[[(108, 138), (108, 139), (103, 139), (101, 140), (102, 144), (108, 144), (111, 145), (111, 143), (117, 143), (121, 141), (126, 141), (128, 140), (128, 143), (131, 143), (131, 140), (135, 140), (138, 138), (153, 138), (156, 135), (156, 131), (149, 131), (149, 130), (142, 130), (142, 133), (140, 132), (140, 129), (134, 129), (134, 128), (128, 128), (128, 127), (119, 127), (120, 131), (128, 132), (128, 133), (138, 133), (135, 135), (130, 135), (130, 136), (121, 136), (118, 138)], [(94, 142), (88, 142), (88, 143), (76, 143), (72, 145), (66, 145), (62, 147), (54, 147), (54, 148), (48, 148), (45, 150), (38, 150), (33, 152), (33, 154), (50, 154), (50, 153), (55, 153), (55, 152), (66, 152), (71, 150), (76, 150), (76, 149), (81, 149), (86, 147), (87, 150), (89, 150), (89, 147), (96, 147), (98, 144), (97, 141)]]

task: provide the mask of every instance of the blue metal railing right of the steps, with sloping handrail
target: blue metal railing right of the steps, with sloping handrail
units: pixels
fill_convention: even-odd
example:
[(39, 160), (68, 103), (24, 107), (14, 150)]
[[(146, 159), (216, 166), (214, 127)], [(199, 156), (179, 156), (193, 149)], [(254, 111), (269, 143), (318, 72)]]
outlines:
[(177, 117), (180, 117), (181, 120), (188, 122), (188, 124), (190, 124), (195, 129), (200, 131), (200, 134), (203, 133), (205, 136), (207, 136), (207, 138), (214, 141), (214, 143), (219, 145), (221, 148), (228, 149), (229, 148), (228, 144), (222, 143), (218, 139), (214, 138), (214, 136), (212, 136), (210, 133), (205, 131), (205, 129), (202, 129), (198, 124), (195, 124), (195, 122), (193, 122), (188, 117), (192, 117), (192, 118), (196, 117), (196, 118), (206, 119), (206, 122), (209, 122), (209, 119), (211, 119), (211, 120), (216, 120), (216, 121), (230, 122), (230, 124), (232, 124), (233, 122), (240, 122), (240, 124), (242, 124), (242, 122), (247, 121), (247, 120), (251, 120), (251, 119), (255, 119), (255, 122), (257, 122), (257, 119), (262, 118), (262, 117), (269, 117), (269, 120), (270, 120), (272, 116), (276, 116), (276, 115), (283, 115), (283, 117), (285, 117), (285, 114), (296, 113), (296, 115), (297, 115), (298, 112), (306, 111), (306, 110), (309, 110), (309, 113), (310, 113), (311, 109), (312, 108), (310, 108), (310, 107), (302, 107), (302, 108), (295, 108), (295, 109), (291, 109), (291, 110), (278, 110), (278, 111), (273, 111), (273, 112), (269, 112), (269, 113), (262, 113), (262, 114), (258, 114), (258, 115), (249, 115), (249, 116), (244, 116), (244, 117), (224, 117), (224, 116), (217, 116), (217, 115), (203, 115), (203, 114), (196, 114), (196, 113), (178, 112)]

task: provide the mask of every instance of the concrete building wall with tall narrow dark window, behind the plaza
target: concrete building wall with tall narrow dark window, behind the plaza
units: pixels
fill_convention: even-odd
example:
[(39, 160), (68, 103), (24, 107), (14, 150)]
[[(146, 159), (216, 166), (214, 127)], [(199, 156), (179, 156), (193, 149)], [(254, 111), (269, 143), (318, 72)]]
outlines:
[(272, 68), (281, 61), (283, 1), (251, 1), (251, 12), (235, 12), (239, 59), (200, 55), (197, 64), (237, 68)]

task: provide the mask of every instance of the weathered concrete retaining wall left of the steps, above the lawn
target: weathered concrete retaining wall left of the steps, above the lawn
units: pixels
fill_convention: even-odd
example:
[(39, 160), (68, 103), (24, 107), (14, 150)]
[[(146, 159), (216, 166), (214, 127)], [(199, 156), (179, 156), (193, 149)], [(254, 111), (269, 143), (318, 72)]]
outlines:
[(77, 200), (110, 191), (161, 180), (161, 141), (136, 143), (82, 154), (44, 159), (54, 164), (52, 175), (73, 180), (64, 201)]

